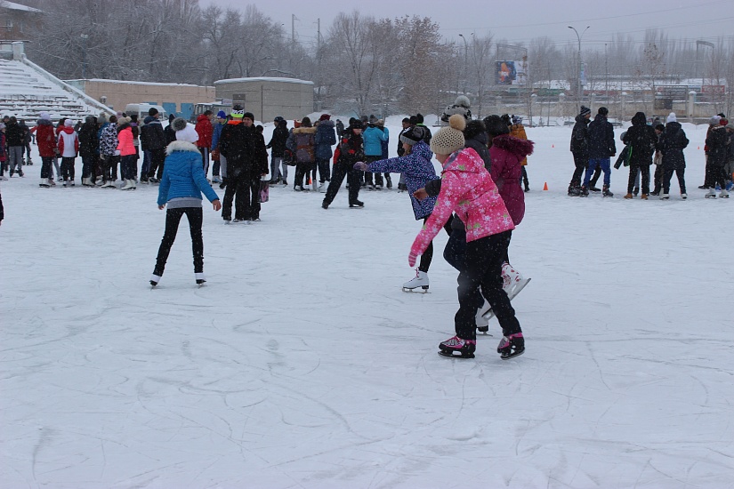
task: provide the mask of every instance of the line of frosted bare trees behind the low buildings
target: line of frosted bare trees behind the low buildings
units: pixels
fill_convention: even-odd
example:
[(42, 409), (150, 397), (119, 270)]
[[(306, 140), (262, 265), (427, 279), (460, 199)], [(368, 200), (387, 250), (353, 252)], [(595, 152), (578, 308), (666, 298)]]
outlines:
[[(575, 42), (538, 36), (525, 44), (469, 33), (457, 42), (441, 36), (440, 24), (428, 17), (341, 12), (315, 41), (302, 41), (254, 4), (244, 10), (202, 7), (198, 0), (26, 4), (45, 12), (42, 28), (28, 33), (28, 57), (62, 79), (211, 85), (225, 78), (285, 76), (313, 81), (318, 109), (383, 116), (435, 112), (464, 92), (472, 112), (482, 115), (491, 105), (498, 56), (527, 56), (536, 88), (561, 80), (573, 92), (577, 84)], [(650, 29), (642, 40), (618, 34), (603, 46), (586, 45), (586, 88), (598, 90), (610, 76), (725, 84), (734, 80), (734, 39), (714, 41), (697, 44)], [(507, 46), (512, 52), (503, 51)]]

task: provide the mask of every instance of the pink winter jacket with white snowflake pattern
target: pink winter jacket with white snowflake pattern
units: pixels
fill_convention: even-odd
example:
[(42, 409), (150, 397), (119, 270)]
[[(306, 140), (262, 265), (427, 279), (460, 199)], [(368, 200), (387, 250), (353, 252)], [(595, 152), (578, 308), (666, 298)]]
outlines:
[(464, 221), (467, 242), (515, 228), (484, 161), (472, 148), (461, 149), (448, 157), (441, 180), (441, 191), (431, 217), (415, 237), (411, 252), (423, 254), (451, 212)]

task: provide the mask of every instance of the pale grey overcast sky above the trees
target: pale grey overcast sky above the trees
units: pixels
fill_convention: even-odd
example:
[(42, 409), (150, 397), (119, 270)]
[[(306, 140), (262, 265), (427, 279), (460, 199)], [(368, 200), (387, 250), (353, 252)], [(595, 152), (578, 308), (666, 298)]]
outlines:
[[(201, 0), (202, 6), (219, 4), (244, 10), (244, 0)], [(603, 46), (614, 33), (623, 32), (640, 38), (646, 28), (664, 29), (671, 38), (691, 40), (712, 37), (734, 37), (734, 0), (520, 0), (499, 2), (491, 0), (368, 0), (366, 2), (337, 2), (330, 0), (274, 0), (257, 2), (258, 10), (270, 19), (284, 24), (291, 33), (291, 15), (295, 33), (303, 43), (315, 42), (317, 20), (325, 36), (338, 12), (359, 12), (377, 18), (404, 15), (431, 17), (440, 24), (441, 33), (449, 40), (461, 43), (458, 36), (478, 36), (491, 31), (495, 39), (510, 43), (527, 43), (536, 36), (549, 36), (558, 45), (577, 43), (573, 26), (583, 36), (583, 44)]]

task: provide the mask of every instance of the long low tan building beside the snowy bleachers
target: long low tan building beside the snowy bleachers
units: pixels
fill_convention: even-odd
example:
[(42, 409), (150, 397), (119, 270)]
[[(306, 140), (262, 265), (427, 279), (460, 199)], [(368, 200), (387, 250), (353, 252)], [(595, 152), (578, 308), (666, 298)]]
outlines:
[(195, 104), (214, 101), (213, 86), (125, 82), (100, 78), (67, 80), (67, 83), (115, 110), (125, 110), (125, 106), (130, 103), (149, 103), (162, 106), (168, 114), (187, 119), (193, 113)]

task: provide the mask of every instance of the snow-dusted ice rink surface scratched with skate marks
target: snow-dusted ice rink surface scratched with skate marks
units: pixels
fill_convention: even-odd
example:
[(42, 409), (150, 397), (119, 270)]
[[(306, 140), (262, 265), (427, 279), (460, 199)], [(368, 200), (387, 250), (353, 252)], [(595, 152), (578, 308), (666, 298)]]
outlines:
[(0, 486), (730, 487), (734, 202), (703, 198), (684, 127), (685, 202), (625, 201), (626, 170), (613, 199), (566, 196), (570, 128), (528, 130), (507, 362), (496, 320), (476, 359), (436, 354), (456, 272), (442, 235), (430, 293), (400, 291), (405, 194), (273, 188), (251, 226), (206, 207), (209, 282), (184, 220), (150, 290), (157, 188), (38, 188), (36, 160), (2, 184)]

